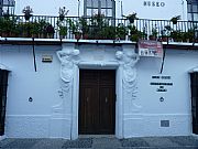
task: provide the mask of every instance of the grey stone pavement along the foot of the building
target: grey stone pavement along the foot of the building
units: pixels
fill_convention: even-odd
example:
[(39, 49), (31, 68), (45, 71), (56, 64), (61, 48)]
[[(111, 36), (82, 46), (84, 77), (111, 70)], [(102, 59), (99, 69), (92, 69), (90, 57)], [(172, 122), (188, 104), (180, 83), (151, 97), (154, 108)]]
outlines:
[(0, 149), (198, 149), (198, 137), (4, 139)]

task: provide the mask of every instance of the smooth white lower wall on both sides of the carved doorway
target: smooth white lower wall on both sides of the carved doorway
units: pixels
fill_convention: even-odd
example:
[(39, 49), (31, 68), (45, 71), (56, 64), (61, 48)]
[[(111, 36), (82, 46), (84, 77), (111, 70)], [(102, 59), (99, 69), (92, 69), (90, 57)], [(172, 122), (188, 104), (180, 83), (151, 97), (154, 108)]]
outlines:
[[(116, 50), (112, 50), (113, 47)], [(32, 45), (0, 45), (0, 64), (11, 70), (8, 86), (6, 136), (70, 138), (72, 99), (67, 97), (63, 99), (58, 93), (61, 63), (56, 57), (56, 51), (62, 50), (62, 47), (58, 45), (35, 46), (37, 72), (34, 72)], [(91, 65), (96, 63), (92, 57), (97, 58), (97, 53), (103, 52), (102, 56), (106, 60), (113, 60), (118, 50), (122, 49), (112, 45), (82, 45), (80, 46), (80, 56)], [(42, 55), (46, 54), (53, 55), (53, 63), (42, 63)], [(191, 134), (188, 71), (198, 66), (197, 56), (196, 51), (167, 50), (162, 74), (160, 74), (160, 58), (141, 57), (136, 65), (138, 94), (135, 99), (135, 104), (140, 108), (136, 111), (133, 110), (130, 97), (122, 100), (122, 137)], [(101, 61), (101, 57), (98, 58)], [(170, 79), (154, 79), (153, 75), (170, 76)], [(152, 82), (170, 82), (173, 86), (164, 86), (167, 92), (158, 93), (156, 92), (158, 86), (151, 85)], [(33, 98), (32, 103), (29, 102), (29, 97)], [(160, 102), (161, 97), (164, 97), (164, 102)], [(59, 108), (61, 105), (64, 109)], [(63, 115), (58, 115), (59, 113)], [(169, 127), (161, 127), (161, 120), (169, 120)]]

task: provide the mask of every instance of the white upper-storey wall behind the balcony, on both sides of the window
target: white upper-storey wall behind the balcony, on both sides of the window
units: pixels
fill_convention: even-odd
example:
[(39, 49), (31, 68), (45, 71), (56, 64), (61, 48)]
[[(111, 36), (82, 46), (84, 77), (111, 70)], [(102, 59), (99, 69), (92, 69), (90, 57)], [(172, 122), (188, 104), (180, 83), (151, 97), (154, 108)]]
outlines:
[[(186, 0), (155, 0), (156, 2), (164, 2), (164, 7), (147, 7), (144, 1), (150, 0), (116, 0), (117, 18), (121, 18), (121, 1), (123, 6), (123, 14), (128, 15), (136, 12), (141, 19), (170, 19), (175, 15), (182, 15), (183, 20), (187, 18), (187, 2)], [(153, 2), (153, 1), (150, 1)], [(69, 12), (68, 15), (78, 15), (78, 0), (16, 0), (16, 14), (22, 14), (22, 9), (25, 6), (33, 8), (34, 14), (58, 15), (59, 7), (66, 7)], [(84, 14), (84, 0), (80, 0), (80, 15)]]

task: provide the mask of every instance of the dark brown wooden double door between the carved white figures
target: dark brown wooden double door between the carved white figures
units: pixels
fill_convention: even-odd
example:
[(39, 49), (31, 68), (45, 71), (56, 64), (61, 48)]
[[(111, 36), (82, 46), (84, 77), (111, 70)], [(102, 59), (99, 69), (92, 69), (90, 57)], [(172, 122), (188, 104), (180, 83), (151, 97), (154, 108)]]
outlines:
[(114, 134), (116, 71), (80, 70), (79, 86), (79, 134)]

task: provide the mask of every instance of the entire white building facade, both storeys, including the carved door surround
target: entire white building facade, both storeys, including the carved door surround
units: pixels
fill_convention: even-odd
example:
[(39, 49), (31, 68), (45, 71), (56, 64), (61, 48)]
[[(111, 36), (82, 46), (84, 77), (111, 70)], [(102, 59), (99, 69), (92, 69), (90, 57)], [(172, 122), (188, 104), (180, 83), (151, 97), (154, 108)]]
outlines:
[[(84, 14), (82, 0), (40, 2), (18, 0), (15, 12), (21, 14), (25, 6), (31, 6), (34, 14), (58, 15), (59, 7), (66, 7), (68, 15)], [(45, 3), (51, 4), (43, 8)], [(140, 19), (169, 20), (182, 15), (187, 20), (187, 2), (116, 0), (117, 18), (133, 12)], [(138, 53), (136, 41), (129, 41), (140, 33), (148, 40), (154, 31), (158, 33), (155, 38), (162, 40), (165, 24), (156, 24), (157, 21), (145, 23), (146, 20), (142, 20), (140, 31), (132, 28), (135, 33), (130, 29), (124, 39), (114, 35), (111, 40), (101, 40), (106, 36), (74, 40), (76, 34), (70, 30), (66, 31), (65, 39), (59, 39), (62, 25), (55, 26), (57, 20), (54, 26), (48, 20), (48, 26), (56, 31), (51, 39), (42, 39), (42, 32), (36, 38), (32, 38), (30, 31), (22, 38), (20, 33), (18, 38), (1, 33), (0, 106), (3, 117), (0, 119), (0, 138), (77, 139), (79, 135), (131, 138), (198, 134), (196, 25), (184, 22), (179, 26), (167, 20), (164, 22), (173, 29), (165, 32), (164, 56), (160, 57), (142, 56)], [(25, 23), (33, 23), (33, 20), (25, 20)], [(138, 20), (123, 23), (128, 28), (129, 24), (138, 25)], [(194, 31), (188, 34), (191, 39), (174, 41), (172, 33), (177, 30), (183, 34)]]

